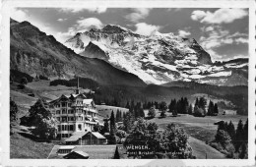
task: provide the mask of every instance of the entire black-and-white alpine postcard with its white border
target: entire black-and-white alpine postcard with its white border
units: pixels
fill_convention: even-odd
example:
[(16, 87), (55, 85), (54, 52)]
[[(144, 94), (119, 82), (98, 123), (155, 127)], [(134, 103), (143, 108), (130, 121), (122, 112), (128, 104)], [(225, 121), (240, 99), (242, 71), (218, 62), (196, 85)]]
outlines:
[(4, 19), (10, 160), (255, 161), (252, 6), (85, 4)]

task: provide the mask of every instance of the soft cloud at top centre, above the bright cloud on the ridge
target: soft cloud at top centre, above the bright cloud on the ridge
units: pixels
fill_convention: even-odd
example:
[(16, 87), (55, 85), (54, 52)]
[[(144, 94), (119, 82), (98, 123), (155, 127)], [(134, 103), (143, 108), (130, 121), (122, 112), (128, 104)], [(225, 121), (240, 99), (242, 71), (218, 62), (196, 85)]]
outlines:
[(133, 23), (138, 23), (140, 20), (145, 19), (151, 11), (150, 8), (135, 8), (132, 10), (133, 13), (126, 15), (125, 18)]

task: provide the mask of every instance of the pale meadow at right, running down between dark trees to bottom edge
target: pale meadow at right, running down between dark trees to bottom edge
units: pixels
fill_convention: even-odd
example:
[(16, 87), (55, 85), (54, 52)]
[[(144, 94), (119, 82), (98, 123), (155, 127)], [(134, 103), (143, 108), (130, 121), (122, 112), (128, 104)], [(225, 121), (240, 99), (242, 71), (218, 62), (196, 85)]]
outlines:
[(167, 113), (166, 118), (158, 118), (160, 113), (157, 113), (157, 118), (154, 118), (150, 121), (156, 122), (160, 129), (163, 129), (167, 124), (174, 123), (186, 131), (186, 133), (190, 136), (189, 144), (193, 149), (193, 154), (198, 159), (205, 159), (206, 153), (207, 158), (211, 159), (219, 159), (224, 158), (224, 154), (210, 145), (206, 144), (206, 141), (211, 141), (215, 138), (218, 126), (214, 125), (214, 123), (224, 120), (229, 122), (230, 120), (236, 127), (238, 121), (241, 119), (243, 122), (246, 121), (247, 116), (239, 116), (239, 115), (219, 115), (216, 117), (194, 117), (190, 115), (181, 115), (179, 117), (170, 117), (170, 114)]

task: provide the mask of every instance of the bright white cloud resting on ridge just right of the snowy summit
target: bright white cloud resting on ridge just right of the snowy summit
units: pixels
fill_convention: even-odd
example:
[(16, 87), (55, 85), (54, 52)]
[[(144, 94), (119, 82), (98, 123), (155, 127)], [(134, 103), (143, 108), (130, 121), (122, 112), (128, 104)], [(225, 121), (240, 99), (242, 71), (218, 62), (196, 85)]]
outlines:
[(146, 23), (136, 24), (135, 27), (136, 27), (135, 32), (142, 35), (150, 35), (154, 30), (160, 29), (160, 26), (148, 25)]

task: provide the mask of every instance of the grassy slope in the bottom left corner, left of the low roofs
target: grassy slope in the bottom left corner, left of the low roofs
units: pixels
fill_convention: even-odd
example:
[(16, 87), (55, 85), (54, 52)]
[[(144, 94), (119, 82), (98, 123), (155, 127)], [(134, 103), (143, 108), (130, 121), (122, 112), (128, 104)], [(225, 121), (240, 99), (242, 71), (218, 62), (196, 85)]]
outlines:
[(37, 142), (14, 134), (10, 137), (10, 158), (45, 159), (54, 143)]

